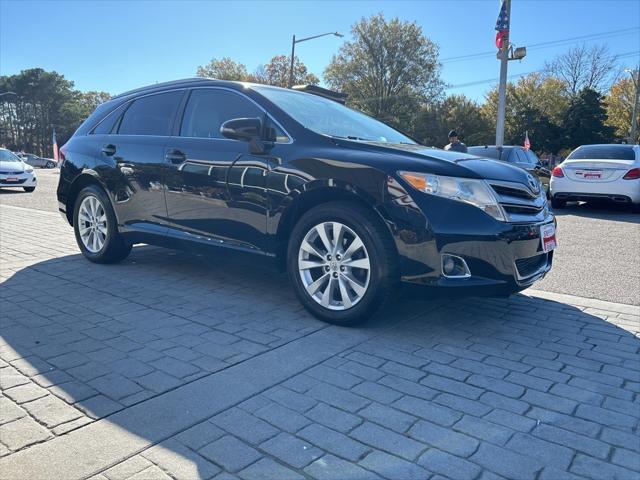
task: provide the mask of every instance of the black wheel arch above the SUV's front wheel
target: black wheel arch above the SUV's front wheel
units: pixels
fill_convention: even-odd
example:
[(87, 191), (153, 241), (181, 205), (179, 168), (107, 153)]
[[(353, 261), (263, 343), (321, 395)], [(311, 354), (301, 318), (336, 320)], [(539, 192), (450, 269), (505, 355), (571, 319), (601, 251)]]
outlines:
[[(336, 201), (353, 203), (354, 205), (359, 205), (372, 211), (376, 218), (385, 226), (385, 231), (389, 234), (389, 238), (392, 240), (395, 248), (393, 230), (391, 228), (393, 222), (379, 202), (376, 202), (373, 197), (367, 195), (365, 192), (360, 192), (354, 188), (325, 184), (300, 192), (290, 197), (286, 202), (287, 206), (282, 211), (275, 233), (275, 255), (278, 269), (286, 269), (289, 236), (298, 220), (312, 208)], [(395, 253), (398, 253), (397, 249)]]

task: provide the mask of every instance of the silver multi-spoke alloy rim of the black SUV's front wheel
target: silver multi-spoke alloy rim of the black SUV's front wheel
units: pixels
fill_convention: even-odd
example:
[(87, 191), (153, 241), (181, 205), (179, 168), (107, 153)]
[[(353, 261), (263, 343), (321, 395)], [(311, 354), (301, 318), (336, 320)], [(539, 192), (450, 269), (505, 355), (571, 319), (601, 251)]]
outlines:
[(298, 270), (307, 293), (330, 310), (347, 310), (367, 292), (369, 253), (360, 237), (339, 222), (324, 222), (305, 235)]

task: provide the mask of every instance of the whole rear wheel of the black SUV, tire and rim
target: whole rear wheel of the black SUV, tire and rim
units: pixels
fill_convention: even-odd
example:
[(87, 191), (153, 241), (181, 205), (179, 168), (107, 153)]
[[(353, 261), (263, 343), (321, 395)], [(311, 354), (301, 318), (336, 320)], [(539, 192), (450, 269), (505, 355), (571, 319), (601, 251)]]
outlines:
[(117, 263), (131, 252), (131, 245), (118, 232), (109, 198), (96, 185), (89, 185), (78, 194), (73, 209), (73, 230), (80, 251), (94, 263)]

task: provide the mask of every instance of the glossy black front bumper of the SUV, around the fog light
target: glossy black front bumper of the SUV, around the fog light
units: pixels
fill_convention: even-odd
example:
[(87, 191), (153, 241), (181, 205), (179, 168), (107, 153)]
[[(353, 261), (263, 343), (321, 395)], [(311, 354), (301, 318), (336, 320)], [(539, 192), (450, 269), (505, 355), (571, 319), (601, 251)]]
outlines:
[[(552, 213), (539, 221), (505, 223), (474, 206), (428, 195), (402, 203), (388, 208), (404, 283), (463, 295), (509, 295), (551, 270), (553, 251), (543, 251), (540, 232), (543, 225), (555, 225)], [(443, 254), (464, 259), (470, 275), (445, 276)]]

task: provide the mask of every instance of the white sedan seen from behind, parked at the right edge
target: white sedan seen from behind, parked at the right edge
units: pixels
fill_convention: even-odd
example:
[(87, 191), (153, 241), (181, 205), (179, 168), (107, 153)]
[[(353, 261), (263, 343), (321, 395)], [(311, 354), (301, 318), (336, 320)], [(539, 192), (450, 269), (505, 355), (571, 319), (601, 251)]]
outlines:
[(551, 204), (599, 199), (640, 207), (640, 146), (582, 145), (551, 173)]

